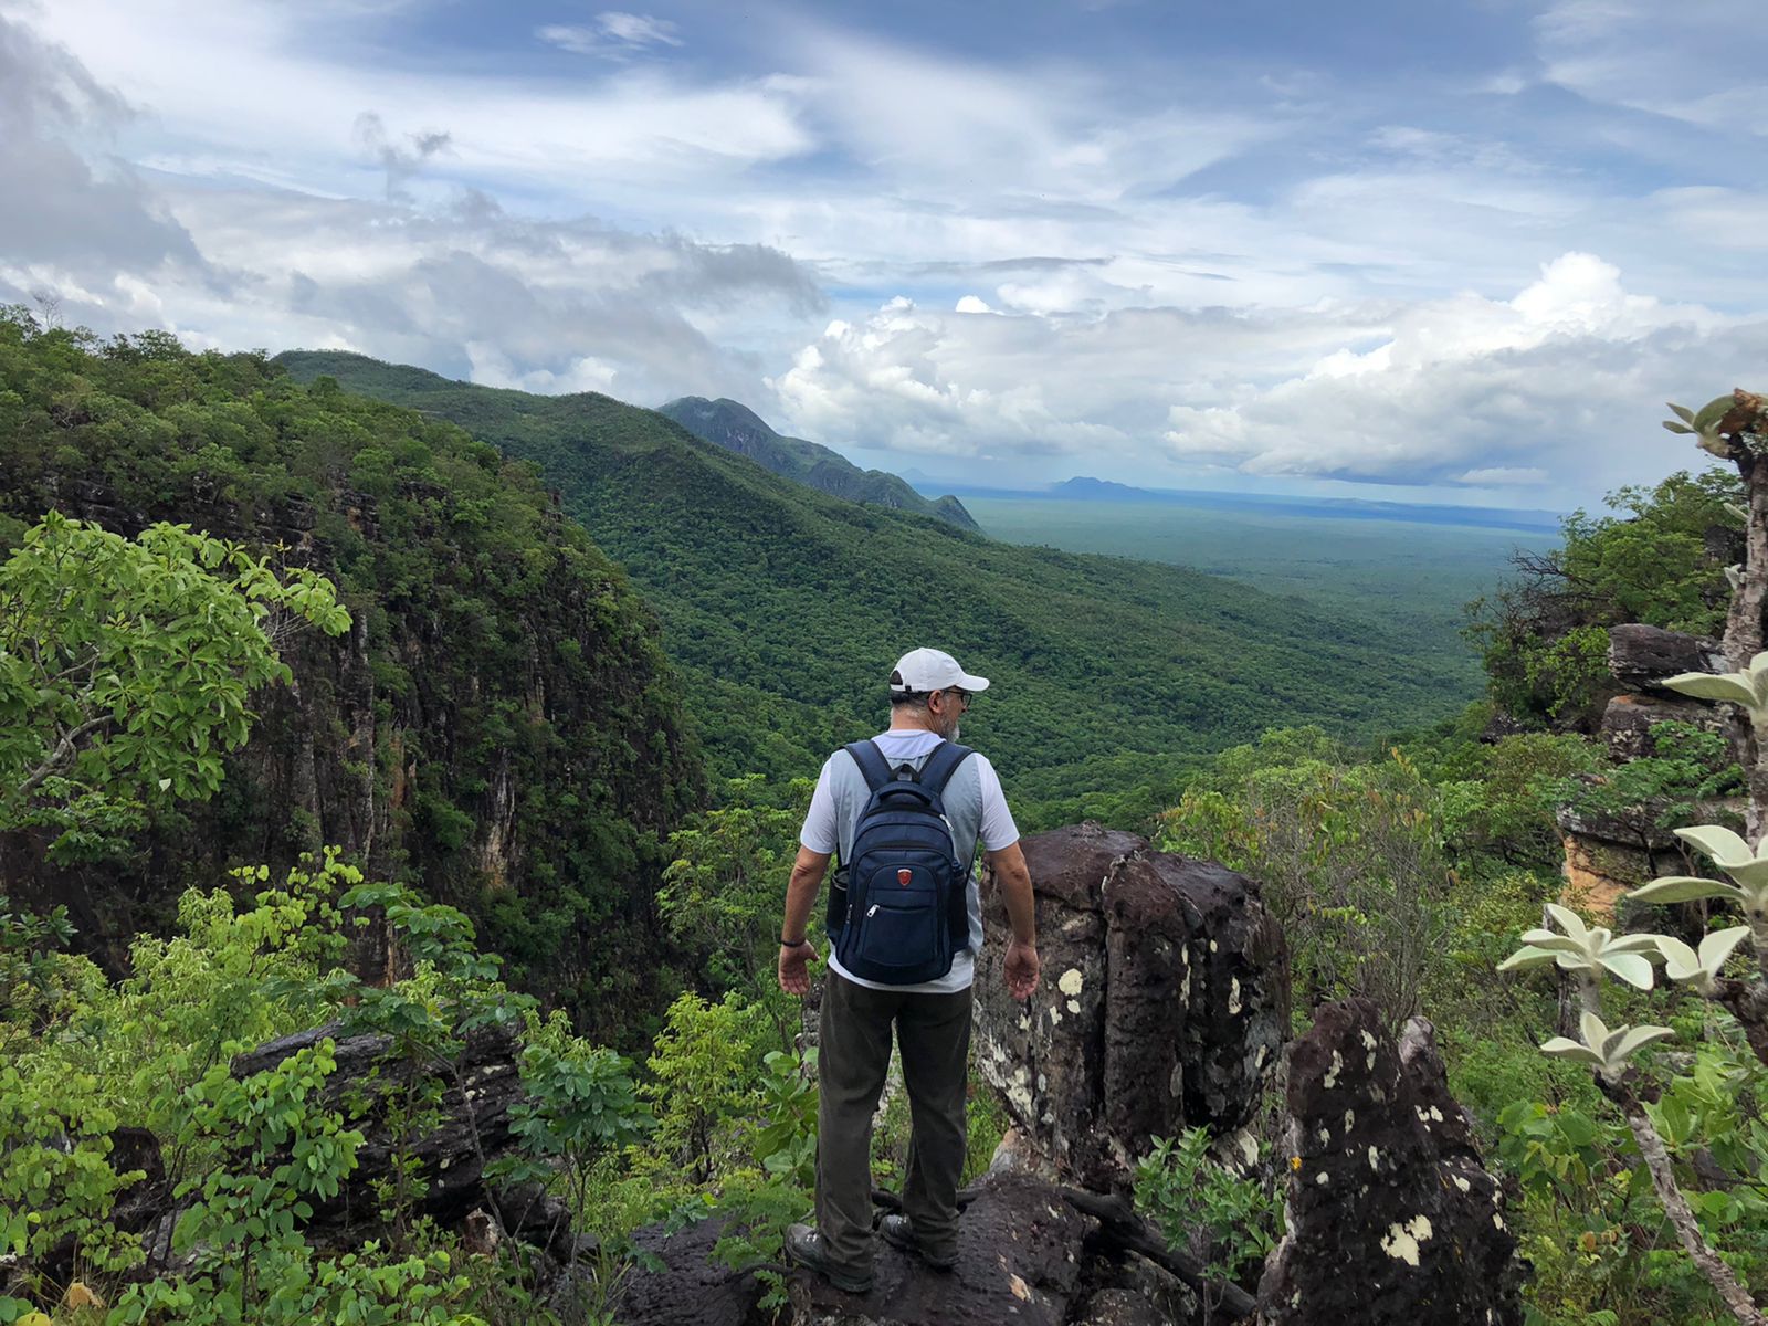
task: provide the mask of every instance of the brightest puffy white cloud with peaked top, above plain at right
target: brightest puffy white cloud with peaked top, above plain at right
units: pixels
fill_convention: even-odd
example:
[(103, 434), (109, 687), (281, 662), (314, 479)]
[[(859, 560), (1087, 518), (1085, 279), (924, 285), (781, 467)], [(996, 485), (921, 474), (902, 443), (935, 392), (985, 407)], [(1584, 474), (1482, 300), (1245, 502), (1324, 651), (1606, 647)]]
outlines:
[(1589, 488), (1662, 470), (1658, 401), (1729, 384), (1764, 347), (1768, 322), (1630, 293), (1612, 265), (1568, 253), (1510, 301), (1411, 304), (1379, 345), (1174, 405), (1165, 438), (1257, 476)]

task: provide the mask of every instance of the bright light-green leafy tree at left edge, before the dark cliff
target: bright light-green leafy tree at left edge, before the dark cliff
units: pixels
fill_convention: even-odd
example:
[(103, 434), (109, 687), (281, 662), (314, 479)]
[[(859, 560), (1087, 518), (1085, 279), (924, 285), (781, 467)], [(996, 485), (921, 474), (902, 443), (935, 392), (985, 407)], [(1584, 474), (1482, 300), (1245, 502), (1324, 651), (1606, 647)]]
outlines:
[(101, 850), (156, 797), (203, 799), (295, 621), (350, 626), (329, 580), (187, 525), (138, 539), (60, 513), (0, 562), (0, 831)]

